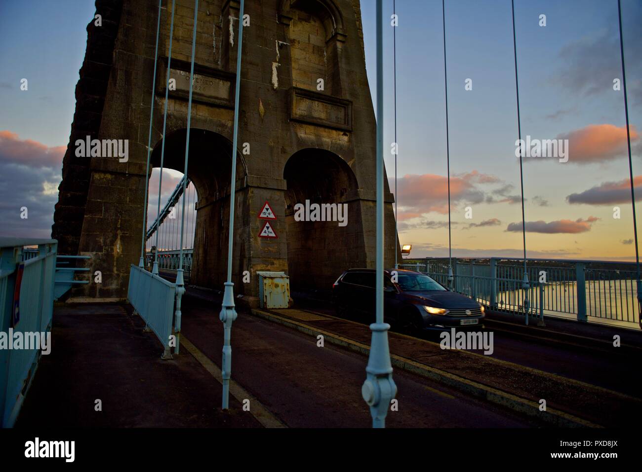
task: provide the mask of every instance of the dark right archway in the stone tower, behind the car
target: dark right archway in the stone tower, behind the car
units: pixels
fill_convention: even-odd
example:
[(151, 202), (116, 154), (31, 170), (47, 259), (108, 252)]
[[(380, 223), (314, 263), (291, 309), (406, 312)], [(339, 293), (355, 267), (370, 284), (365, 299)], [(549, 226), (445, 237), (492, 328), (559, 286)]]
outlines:
[(361, 213), (358, 202), (349, 201), (358, 190), (356, 177), (342, 158), (325, 149), (293, 154), (283, 177), (291, 289), (330, 291), (343, 270), (365, 261)]

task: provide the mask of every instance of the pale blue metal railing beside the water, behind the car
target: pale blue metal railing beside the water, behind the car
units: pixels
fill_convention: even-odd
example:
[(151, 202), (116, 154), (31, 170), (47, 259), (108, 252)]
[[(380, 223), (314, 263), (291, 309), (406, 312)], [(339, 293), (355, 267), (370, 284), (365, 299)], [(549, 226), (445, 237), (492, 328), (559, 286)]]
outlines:
[[(452, 258), (453, 290), (492, 309), (523, 312), (523, 259)], [(530, 313), (639, 328), (635, 263), (527, 259)], [(405, 260), (400, 268), (428, 274), (448, 286), (448, 258)], [(474, 280), (474, 282), (472, 282)], [(473, 287), (473, 291), (467, 287)], [(530, 293), (534, 291), (534, 293)]]

